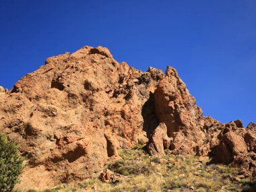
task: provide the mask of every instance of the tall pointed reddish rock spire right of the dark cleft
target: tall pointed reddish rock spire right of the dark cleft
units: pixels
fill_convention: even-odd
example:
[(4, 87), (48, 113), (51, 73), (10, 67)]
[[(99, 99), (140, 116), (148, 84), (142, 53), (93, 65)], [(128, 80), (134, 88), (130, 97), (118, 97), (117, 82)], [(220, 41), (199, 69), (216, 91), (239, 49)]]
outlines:
[(172, 67), (167, 67), (166, 76), (159, 82), (154, 102), (156, 116), (165, 123), (168, 137), (173, 138), (170, 149), (174, 154), (206, 155), (205, 134), (198, 121), (203, 112)]

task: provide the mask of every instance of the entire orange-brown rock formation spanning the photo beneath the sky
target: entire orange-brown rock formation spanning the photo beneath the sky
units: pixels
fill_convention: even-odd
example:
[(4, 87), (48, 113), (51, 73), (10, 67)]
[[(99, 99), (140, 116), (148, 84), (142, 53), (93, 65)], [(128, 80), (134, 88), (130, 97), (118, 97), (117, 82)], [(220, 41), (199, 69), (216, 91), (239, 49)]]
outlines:
[(46, 59), (13, 89), (0, 88), (0, 131), (28, 158), (21, 189), (82, 181), (118, 159), (119, 148), (148, 144), (152, 155), (211, 156), (255, 177), (256, 126), (202, 117), (177, 71), (141, 72), (108, 49), (84, 46)]

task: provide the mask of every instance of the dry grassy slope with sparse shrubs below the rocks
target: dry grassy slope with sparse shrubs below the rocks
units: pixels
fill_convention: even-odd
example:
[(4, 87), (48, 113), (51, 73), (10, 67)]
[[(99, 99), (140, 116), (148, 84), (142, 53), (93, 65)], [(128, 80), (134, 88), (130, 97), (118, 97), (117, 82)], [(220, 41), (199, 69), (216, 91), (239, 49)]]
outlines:
[(120, 150), (123, 160), (106, 165), (127, 179), (119, 183), (102, 183), (97, 178), (77, 185), (63, 185), (51, 191), (242, 191), (253, 182), (248, 179), (232, 181), (238, 168), (220, 164), (207, 165), (194, 156), (149, 156), (143, 147)]

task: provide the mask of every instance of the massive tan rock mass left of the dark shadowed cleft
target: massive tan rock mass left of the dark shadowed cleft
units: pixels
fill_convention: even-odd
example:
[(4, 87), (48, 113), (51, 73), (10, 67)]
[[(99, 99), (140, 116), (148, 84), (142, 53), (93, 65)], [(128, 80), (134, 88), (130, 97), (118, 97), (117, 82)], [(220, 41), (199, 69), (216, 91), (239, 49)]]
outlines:
[(158, 69), (142, 73), (118, 63), (101, 46), (84, 46), (20, 79), (0, 96), (0, 131), (28, 157), (20, 187), (82, 181), (119, 158), (119, 148), (146, 144), (150, 106), (143, 105), (162, 77)]

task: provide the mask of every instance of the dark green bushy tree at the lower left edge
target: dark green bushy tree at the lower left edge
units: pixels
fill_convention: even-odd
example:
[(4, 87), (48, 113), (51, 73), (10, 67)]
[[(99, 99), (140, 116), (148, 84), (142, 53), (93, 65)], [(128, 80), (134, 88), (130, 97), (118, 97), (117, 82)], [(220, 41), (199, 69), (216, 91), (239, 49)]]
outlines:
[(15, 143), (8, 141), (0, 133), (0, 191), (9, 192), (18, 183), (18, 176), (22, 172), (24, 159), (18, 152)]

